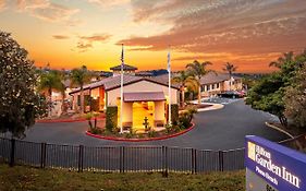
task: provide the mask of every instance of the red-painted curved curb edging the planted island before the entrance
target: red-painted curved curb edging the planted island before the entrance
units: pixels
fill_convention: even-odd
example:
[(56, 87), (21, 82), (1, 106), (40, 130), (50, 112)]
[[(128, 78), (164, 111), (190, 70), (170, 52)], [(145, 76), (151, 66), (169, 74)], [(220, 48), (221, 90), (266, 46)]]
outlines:
[(174, 134), (170, 134), (170, 135), (164, 135), (164, 136), (160, 136), (160, 138), (146, 138), (146, 139), (126, 139), (126, 138), (114, 138), (114, 136), (103, 136), (103, 135), (98, 135), (98, 134), (93, 134), (88, 131), (86, 131), (86, 135), (88, 136), (93, 136), (93, 138), (97, 138), (97, 139), (102, 139), (102, 140), (110, 140), (110, 141), (122, 141), (122, 142), (144, 142), (144, 141), (159, 141), (159, 140), (166, 140), (166, 139), (170, 139), (170, 138), (175, 138), (179, 136), (181, 134), (184, 134), (188, 131), (191, 131), (192, 129), (194, 129), (195, 123), (192, 122), (192, 127), (189, 127), (188, 129), (185, 129), (181, 132), (174, 133)]

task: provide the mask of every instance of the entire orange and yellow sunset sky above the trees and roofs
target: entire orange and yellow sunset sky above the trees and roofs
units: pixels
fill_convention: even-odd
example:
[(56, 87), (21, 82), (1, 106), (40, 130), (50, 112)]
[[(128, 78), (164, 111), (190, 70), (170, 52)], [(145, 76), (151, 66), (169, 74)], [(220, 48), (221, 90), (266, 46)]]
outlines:
[(306, 48), (306, 0), (0, 0), (0, 29), (36, 65), (173, 70), (197, 59), (222, 70), (269, 72), (282, 52)]

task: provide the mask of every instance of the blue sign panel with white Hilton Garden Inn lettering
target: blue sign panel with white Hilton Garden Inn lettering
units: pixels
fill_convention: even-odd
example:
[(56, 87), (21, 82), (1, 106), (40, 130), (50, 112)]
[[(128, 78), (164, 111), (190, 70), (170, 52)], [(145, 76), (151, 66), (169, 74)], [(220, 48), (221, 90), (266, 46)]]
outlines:
[(258, 136), (246, 136), (245, 166), (280, 191), (306, 191), (306, 155)]

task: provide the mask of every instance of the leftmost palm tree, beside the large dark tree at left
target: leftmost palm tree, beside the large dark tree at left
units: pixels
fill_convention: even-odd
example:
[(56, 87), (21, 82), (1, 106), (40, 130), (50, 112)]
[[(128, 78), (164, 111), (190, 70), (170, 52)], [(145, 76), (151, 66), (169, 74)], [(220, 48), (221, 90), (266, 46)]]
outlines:
[(49, 71), (40, 74), (39, 84), (38, 84), (39, 92), (47, 92), (49, 97), (49, 116), (52, 111), (52, 91), (64, 91), (64, 85), (61, 81), (61, 75), (58, 71)]

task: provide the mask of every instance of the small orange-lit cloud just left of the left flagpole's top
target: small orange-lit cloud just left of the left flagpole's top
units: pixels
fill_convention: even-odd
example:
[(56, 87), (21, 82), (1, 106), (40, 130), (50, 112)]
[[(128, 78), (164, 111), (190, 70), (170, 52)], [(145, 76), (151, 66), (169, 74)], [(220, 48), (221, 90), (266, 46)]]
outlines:
[(93, 48), (94, 43), (103, 43), (107, 41), (111, 35), (109, 34), (94, 34), (91, 36), (78, 36), (78, 43), (76, 45), (76, 48), (79, 50), (79, 52), (85, 52)]

